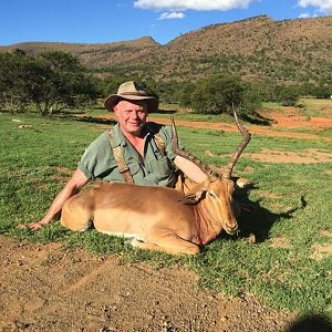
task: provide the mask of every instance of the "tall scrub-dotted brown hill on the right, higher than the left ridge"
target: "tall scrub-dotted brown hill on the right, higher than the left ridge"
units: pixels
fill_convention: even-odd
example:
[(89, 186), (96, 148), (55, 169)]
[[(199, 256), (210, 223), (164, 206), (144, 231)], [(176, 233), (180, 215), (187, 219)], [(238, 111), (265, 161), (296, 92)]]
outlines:
[(331, 32), (332, 17), (215, 24), (173, 40), (149, 56), (148, 66), (167, 79), (230, 72), (249, 80), (318, 82), (331, 73)]

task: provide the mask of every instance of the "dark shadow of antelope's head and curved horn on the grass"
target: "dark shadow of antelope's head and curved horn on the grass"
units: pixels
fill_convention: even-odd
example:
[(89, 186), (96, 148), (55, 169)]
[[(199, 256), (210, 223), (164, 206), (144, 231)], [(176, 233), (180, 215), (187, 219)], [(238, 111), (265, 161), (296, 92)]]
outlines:
[(241, 230), (239, 237), (248, 238), (250, 235), (255, 235), (256, 242), (263, 242), (269, 237), (270, 230), (276, 222), (282, 219), (291, 219), (297, 210), (307, 206), (304, 197), (301, 196), (301, 206), (276, 214), (262, 207), (261, 199), (257, 201), (250, 200), (248, 191), (238, 195), (236, 199), (241, 206), (241, 215), (238, 218), (239, 229)]

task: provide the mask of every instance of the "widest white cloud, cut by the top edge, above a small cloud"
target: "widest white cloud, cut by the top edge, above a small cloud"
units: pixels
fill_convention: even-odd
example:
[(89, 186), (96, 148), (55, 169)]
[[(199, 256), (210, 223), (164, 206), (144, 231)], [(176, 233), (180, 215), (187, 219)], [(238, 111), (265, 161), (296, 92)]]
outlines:
[(193, 10), (230, 10), (248, 8), (256, 0), (136, 0), (134, 7), (142, 9), (167, 9), (170, 11)]

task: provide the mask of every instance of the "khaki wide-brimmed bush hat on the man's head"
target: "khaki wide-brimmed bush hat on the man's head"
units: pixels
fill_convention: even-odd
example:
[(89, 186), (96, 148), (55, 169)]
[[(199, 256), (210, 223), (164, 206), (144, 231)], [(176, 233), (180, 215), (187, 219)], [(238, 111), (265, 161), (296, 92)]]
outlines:
[(148, 94), (148, 92), (133, 81), (121, 84), (117, 90), (117, 94), (111, 94), (107, 96), (104, 105), (106, 110), (113, 111), (113, 107), (122, 100), (146, 101), (148, 113), (157, 111), (159, 104), (155, 96)]

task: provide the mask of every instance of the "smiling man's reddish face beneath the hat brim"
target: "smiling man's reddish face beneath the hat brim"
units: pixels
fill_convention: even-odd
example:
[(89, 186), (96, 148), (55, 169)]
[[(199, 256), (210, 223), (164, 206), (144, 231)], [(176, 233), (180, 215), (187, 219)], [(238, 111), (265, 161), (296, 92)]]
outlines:
[(141, 135), (147, 117), (146, 106), (144, 101), (120, 101), (114, 106), (115, 116), (124, 134)]

